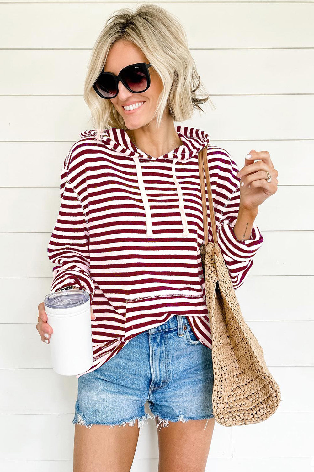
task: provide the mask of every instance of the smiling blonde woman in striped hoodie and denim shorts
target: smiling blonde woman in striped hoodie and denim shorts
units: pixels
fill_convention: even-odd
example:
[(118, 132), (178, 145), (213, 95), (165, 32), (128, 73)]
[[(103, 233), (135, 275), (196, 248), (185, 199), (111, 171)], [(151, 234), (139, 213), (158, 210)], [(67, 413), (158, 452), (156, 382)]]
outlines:
[[(185, 32), (167, 10), (142, 4), (109, 18), (85, 81), (95, 129), (64, 160), (48, 245), (51, 291), (86, 290), (92, 307), (94, 363), (77, 375), (75, 472), (129, 471), (148, 418), (161, 426), (159, 472), (205, 470), (215, 420), (198, 152), (208, 146), (218, 244), (234, 288), (263, 242), (254, 221), (278, 172), (255, 150), (238, 172), (205, 131), (174, 125), (209, 99), (198, 89)], [(49, 343), (43, 303), (38, 321)]]

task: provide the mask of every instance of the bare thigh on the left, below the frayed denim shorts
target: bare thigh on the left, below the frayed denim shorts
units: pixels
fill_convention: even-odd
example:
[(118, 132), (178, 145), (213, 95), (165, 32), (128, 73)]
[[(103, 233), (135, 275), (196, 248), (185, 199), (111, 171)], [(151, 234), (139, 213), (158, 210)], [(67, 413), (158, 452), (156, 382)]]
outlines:
[(129, 472), (139, 435), (134, 426), (75, 424), (73, 472)]

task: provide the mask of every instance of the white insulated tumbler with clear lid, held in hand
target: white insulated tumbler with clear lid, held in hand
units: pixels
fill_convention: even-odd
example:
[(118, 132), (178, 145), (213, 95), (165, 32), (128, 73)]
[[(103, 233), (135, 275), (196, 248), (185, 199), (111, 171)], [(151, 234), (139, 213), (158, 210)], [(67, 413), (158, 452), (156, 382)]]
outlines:
[(45, 297), (45, 311), (53, 333), (49, 340), (52, 369), (77, 375), (93, 365), (89, 293), (62, 290)]

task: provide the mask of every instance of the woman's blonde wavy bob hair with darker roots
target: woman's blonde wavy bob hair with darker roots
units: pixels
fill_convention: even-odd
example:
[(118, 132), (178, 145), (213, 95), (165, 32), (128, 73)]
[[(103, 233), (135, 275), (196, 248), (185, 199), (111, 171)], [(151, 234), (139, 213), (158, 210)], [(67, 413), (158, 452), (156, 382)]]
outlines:
[[(201, 84), (185, 30), (177, 17), (152, 3), (142, 3), (134, 12), (121, 8), (107, 19), (97, 37), (84, 82), (83, 97), (91, 111), (92, 126), (97, 129), (97, 141), (106, 128), (127, 129), (111, 101), (102, 99), (93, 89), (111, 46), (120, 39), (136, 44), (161, 77), (163, 90), (153, 116), (157, 117), (157, 127), (167, 105), (173, 120), (178, 122), (192, 118), (196, 109), (203, 111), (200, 104), (208, 100), (215, 109)], [(197, 91), (201, 96), (196, 95)]]

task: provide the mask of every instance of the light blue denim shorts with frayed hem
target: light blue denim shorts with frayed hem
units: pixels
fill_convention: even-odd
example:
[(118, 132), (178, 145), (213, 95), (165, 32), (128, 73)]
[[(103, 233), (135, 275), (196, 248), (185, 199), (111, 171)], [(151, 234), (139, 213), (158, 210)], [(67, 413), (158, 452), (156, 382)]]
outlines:
[[(173, 315), (78, 378), (72, 423), (114, 427), (138, 420), (141, 430), (148, 418), (156, 418), (157, 427), (209, 420), (213, 381), (211, 349), (197, 339), (185, 316)], [(153, 416), (145, 413), (146, 402)]]

